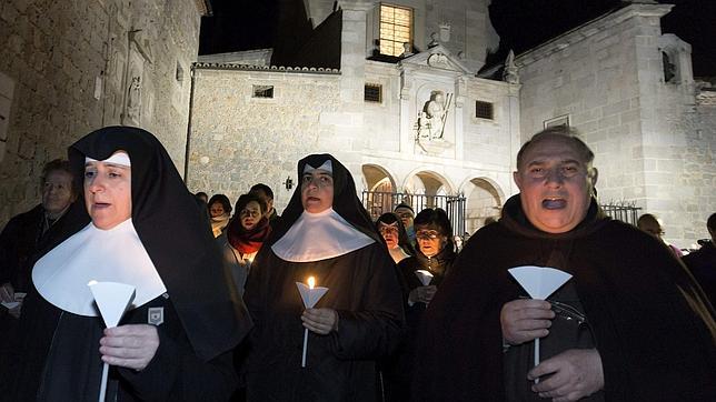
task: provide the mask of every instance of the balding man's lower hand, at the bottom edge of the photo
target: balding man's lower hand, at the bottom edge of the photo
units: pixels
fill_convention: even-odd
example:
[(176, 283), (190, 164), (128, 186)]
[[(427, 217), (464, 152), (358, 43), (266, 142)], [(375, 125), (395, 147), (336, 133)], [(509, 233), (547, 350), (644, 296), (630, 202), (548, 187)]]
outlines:
[(551, 374), (533, 385), (533, 391), (554, 402), (577, 401), (604, 388), (601, 356), (596, 349), (570, 349), (545, 360), (527, 373), (535, 380)]

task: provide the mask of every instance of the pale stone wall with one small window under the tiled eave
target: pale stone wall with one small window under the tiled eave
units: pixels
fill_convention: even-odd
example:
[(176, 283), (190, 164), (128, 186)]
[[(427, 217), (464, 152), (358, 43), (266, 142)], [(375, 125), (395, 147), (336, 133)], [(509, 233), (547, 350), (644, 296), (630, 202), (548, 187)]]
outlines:
[[(253, 97), (272, 86), (274, 98)], [(266, 70), (195, 72), (189, 151), (189, 190), (225, 193), (231, 202), (252, 184), (268, 184), (281, 210), (298, 182), (296, 163), (309, 153), (350, 150), (326, 121), (340, 103), (339, 76)], [(338, 157), (338, 155), (337, 155)]]

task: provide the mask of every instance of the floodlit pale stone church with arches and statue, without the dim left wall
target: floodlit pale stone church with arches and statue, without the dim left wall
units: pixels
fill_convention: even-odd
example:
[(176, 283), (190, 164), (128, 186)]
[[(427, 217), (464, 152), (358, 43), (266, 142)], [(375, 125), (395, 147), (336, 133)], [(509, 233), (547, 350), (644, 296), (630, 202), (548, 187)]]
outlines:
[[(359, 193), (465, 197), (471, 232), (517, 191), (520, 144), (568, 123), (596, 152), (603, 203), (659, 214), (679, 247), (706, 237), (714, 98), (692, 77), (689, 44), (662, 33), (672, 6), (635, 1), (485, 68), (498, 42), (488, 0), (305, 3), (314, 30), (292, 59), (277, 47), (196, 64), (190, 189), (236, 199), (262, 181), (280, 210), (296, 161), (330, 152)], [(375, 214), (399, 201), (377, 195), (366, 194)]]

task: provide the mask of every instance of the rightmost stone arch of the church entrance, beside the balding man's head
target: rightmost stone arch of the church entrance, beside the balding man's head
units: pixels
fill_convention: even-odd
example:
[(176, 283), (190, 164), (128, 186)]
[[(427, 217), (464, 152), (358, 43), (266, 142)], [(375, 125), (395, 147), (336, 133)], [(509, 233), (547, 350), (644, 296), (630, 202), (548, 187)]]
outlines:
[(469, 183), (471, 189), (466, 188), (465, 191), (467, 197), (465, 229), (471, 234), (485, 225), (486, 219), (499, 218), (505, 200), (499, 188), (487, 179), (475, 178)]

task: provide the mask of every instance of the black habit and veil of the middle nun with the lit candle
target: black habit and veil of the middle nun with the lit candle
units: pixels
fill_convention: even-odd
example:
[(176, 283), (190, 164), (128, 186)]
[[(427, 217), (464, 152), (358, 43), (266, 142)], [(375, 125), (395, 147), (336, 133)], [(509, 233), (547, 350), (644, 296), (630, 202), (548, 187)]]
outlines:
[[(335, 158), (302, 159), (320, 167), (330, 159), (334, 210), (372, 243), (346, 254), (310, 262), (280, 259), (271, 245), (304, 212), (301, 187), (284, 211), (272, 238), (251, 265), (243, 300), (251, 313), (249, 359), (246, 365), (249, 401), (375, 401), (378, 396), (376, 360), (396, 345), (404, 322), (396, 268), (368, 213), (356, 195), (348, 170)], [(310, 233), (306, 233), (310, 237)], [(296, 282), (312, 275), (328, 292), (316, 308), (338, 312), (338, 330), (327, 335), (309, 331), (307, 366), (301, 368), (304, 304)]]

